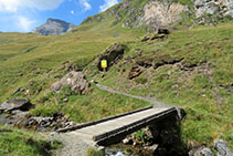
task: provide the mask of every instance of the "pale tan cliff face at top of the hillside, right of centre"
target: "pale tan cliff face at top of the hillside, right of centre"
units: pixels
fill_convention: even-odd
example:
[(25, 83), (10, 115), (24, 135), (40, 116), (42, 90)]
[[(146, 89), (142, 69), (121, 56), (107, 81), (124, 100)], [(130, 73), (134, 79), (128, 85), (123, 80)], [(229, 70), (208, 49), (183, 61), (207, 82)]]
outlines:
[[(171, 23), (181, 21), (181, 13), (189, 12), (187, 6), (171, 2), (171, 1), (148, 1), (138, 2), (140, 7), (133, 7), (135, 1), (125, 0), (121, 8), (116, 13), (116, 21), (126, 28), (141, 28), (146, 27), (148, 31), (158, 31), (160, 27), (169, 27)], [(127, 12), (126, 19), (121, 11)]]

